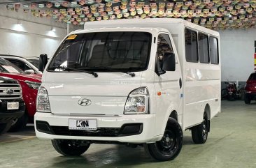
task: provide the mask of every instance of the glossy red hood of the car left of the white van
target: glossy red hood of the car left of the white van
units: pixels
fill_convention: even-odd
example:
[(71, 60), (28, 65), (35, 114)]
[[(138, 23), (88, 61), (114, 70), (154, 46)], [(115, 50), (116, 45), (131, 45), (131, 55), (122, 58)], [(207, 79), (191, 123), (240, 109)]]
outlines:
[(16, 79), (18, 81), (31, 81), (31, 82), (41, 82), (42, 75), (41, 74), (22, 74), (22, 73), (3, 73), (0, 72), (0, 76), (2, 77), (10, 77)]

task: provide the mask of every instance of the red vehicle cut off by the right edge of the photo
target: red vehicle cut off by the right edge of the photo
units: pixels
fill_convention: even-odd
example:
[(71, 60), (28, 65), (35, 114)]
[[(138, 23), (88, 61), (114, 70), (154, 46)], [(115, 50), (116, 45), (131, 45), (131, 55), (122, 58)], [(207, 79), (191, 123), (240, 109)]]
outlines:
[(246, 94), (244, 98), (244, 102), (246, 104), (250, 104), (251, 100), (256, 100), (256, 72), (250, 74), (246, 82)]

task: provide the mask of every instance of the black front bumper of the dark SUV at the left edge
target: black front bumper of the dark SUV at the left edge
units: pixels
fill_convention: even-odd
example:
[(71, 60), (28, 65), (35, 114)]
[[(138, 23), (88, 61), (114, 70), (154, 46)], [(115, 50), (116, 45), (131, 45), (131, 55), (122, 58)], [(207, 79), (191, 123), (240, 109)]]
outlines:
[[(19, 102), (19, 109), (7, 109), (7, 102)], [(24, 114), (25, 105), (22, 99), (0, 100), (0, 123), (8, 123)]]

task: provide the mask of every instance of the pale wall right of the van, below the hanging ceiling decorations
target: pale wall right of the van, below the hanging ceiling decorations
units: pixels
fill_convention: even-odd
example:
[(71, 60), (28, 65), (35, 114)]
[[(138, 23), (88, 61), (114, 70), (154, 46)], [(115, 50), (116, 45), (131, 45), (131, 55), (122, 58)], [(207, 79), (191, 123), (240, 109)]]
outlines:
[(222, 81), (246, 82), (254, 71), (256, 29), (220, 31)]

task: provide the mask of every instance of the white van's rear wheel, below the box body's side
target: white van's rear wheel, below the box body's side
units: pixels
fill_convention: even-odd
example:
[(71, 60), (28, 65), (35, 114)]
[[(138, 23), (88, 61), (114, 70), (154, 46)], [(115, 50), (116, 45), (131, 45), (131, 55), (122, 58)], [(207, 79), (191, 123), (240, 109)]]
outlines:
[(194, 144), (204, 144), (208, 137), (208, 119), (207, 114), (204, 113), (204, 120), (201, 124), (195, 125), (191, 129), (192, 139)]

